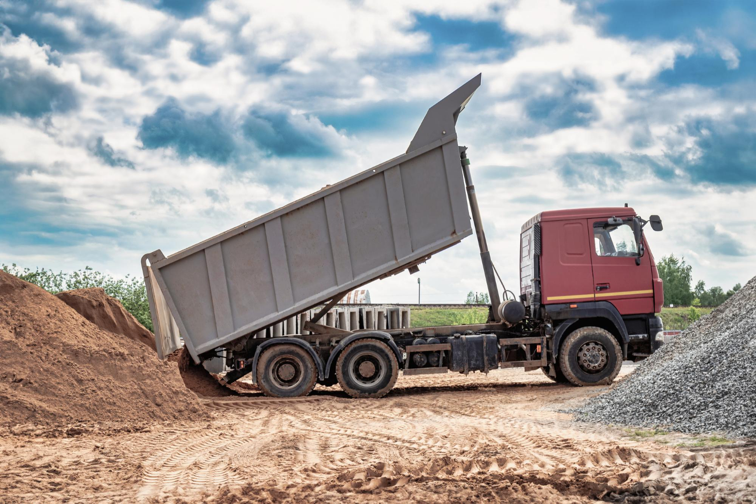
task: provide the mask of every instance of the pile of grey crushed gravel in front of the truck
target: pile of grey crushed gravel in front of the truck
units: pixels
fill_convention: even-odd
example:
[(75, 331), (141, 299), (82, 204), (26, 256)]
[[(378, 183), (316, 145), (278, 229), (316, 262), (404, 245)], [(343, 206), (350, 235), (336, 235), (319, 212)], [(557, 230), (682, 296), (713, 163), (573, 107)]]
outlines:
[(756, 437), (756, 278), (573, 413), (596, 422)]

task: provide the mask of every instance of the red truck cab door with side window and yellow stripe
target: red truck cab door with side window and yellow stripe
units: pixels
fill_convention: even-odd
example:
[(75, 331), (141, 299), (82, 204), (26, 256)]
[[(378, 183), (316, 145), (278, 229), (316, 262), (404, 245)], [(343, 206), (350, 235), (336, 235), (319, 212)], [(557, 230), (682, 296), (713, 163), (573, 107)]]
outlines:
[(607, 219), (589, 219), (588, 224), (593, 231), (591, 261), (596, 301), (611, 302), (622, 315), (653, 313), (651, 255), (644, 254), (640, 265), (636, 264), (638, 249), (632, 218), (623, 218), (618, 225), (608, 224)]

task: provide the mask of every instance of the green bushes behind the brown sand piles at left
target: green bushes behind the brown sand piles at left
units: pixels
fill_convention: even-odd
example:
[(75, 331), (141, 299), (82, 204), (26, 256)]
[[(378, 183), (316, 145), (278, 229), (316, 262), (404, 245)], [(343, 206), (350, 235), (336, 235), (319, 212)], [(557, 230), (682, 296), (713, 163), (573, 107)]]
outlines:
[(2, 264), (2, 271), (40, 286), (52, 294), (64, 290), (102, 287), (107, 295), (121, 301), (123, 308), (134, 315), (141, 325), (147, 327), (150, 331), (153, 330), (150, 305), (147, 301), (147, 289), (144, 287), (144, 280), (139, 277), (126, 275), (125, 278), (116, 279), (110, 275), (94, 271), (88, 266), (73, 273), (64, 273), (63, 271), (55, 273), (52, 270), (45, 270), (45, 268), (38, 267), (35, 271), (31, 271), (28, 267), (22, 270), (16, 264), (11, 264), (11, 266)]

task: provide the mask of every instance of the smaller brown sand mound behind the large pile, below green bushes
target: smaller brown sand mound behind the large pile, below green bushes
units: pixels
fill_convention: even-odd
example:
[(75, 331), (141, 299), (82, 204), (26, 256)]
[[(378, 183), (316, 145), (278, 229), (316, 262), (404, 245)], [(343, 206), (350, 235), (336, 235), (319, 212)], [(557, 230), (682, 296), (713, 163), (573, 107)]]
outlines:
[(155, 350), (152, 332), (126, 311), (121, 301), (105, 294), (101, 287), (67, 290), (56, 296), (95, 326), (144, 343)]

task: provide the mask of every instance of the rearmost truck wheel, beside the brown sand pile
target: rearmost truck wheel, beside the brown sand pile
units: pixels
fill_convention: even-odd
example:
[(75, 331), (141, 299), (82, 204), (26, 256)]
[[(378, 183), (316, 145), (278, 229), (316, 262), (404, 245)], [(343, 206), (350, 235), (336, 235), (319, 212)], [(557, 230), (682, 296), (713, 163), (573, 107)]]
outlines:
[(316, 379), (315, 361), (299, 345), (273, 345), (257, 361), (257, 385), (268, 397), (307, 395)]

